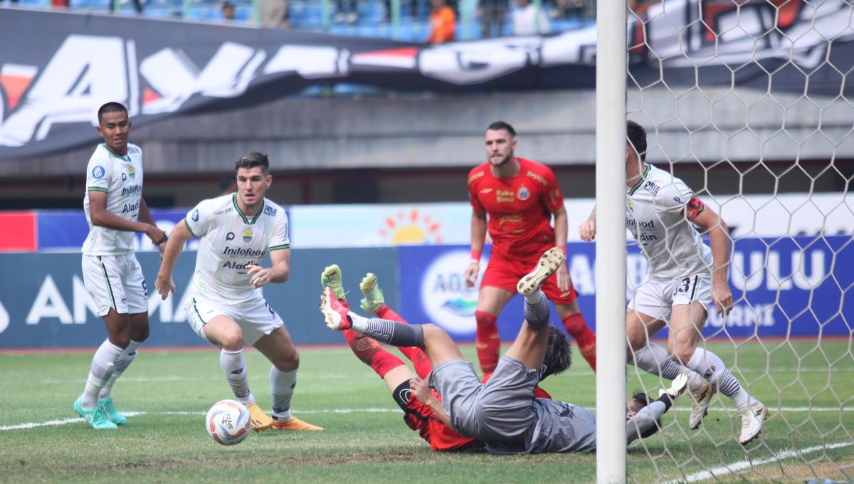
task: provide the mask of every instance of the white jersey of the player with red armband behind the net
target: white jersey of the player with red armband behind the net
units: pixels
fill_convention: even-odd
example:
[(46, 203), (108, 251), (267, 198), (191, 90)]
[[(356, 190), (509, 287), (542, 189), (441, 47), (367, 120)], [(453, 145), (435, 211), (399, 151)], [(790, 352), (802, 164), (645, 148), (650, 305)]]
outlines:
[(710, 271), (711, 248), (685, 214), (692, 196), (679, 178), (651, 165), (628, 190), (626, 228), (649, 259), (648, 277), (668, 281)]

